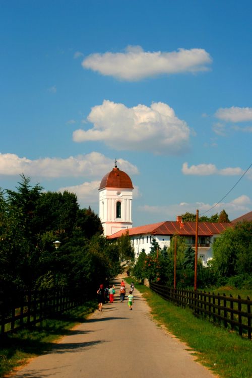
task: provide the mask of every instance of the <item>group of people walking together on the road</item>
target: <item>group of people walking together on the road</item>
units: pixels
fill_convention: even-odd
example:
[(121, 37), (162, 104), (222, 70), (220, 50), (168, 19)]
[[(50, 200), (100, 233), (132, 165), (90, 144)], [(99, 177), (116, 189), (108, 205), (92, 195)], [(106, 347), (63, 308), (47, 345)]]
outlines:
[[(128, 305), (130, 307), (130, 310), (132, 310), (132, 304), (134, 301), (133, 297), (133, 291), (134, 291), (135, 285), (134, 282), (131, 283), (131, 290), (128, 295)], [(113, 303), (114, 301), (114, 294), (115, 294), (115, 287), (114, 285), (109, 285), (104, 288), (103, 284), (100, 284), (96, 295), (97, 295), (97, 302), (98, 302), (98, 310), (102, 311), (103, 303), (107, 303), (108, 301), (110, 303)], [(120, 283), (120, 301), (123, 303), (125, 300), (126, 290), (125, 290), (125, 283), (123, 280), (121, 280)]]

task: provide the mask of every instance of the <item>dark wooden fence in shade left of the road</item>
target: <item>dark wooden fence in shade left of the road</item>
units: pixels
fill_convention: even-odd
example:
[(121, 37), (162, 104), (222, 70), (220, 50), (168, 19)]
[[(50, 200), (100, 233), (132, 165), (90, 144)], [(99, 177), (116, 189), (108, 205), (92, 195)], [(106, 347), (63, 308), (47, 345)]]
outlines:
[(0, 292), (0, 335), (34, 326), (53, 314), (82, 304), (85, 300), (85, 295), (64, 289)]

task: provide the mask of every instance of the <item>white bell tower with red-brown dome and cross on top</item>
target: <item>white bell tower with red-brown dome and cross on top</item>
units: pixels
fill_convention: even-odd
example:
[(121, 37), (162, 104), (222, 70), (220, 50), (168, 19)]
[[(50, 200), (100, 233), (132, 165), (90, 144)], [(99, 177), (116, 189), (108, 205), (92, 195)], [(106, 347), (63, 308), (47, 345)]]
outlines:
[(130, 176), (114, 168), (101, 180), (99, 187), (99, 216), (104, 235), (132, 228), (133, 185)]

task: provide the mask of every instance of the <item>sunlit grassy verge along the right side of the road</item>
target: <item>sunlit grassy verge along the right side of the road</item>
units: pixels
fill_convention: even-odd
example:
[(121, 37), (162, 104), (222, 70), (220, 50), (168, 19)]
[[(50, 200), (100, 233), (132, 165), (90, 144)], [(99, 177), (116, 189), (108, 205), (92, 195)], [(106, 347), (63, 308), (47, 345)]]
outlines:
[[(130, 283), (132, 279), (125, 281)], [(250, 340), (195, 318), (190, 310), (173, 305), (144, 285), (136, 284), (135, 287), (143, 293), (157, 323), (184, 341), (199, 362), (223, 378), (251, 378)]]

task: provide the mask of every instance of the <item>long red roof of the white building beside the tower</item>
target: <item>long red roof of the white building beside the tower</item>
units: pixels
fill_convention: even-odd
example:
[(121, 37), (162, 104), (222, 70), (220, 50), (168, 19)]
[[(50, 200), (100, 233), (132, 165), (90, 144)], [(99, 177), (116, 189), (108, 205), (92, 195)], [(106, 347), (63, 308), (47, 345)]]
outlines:
[[(233, 227), (232, 223), (210, 223), (210, 222), (199, 222), (198, 223), (198, 235), (199, 236), (212, 236), (214, 234), (220, 234), (225, 229)], [(154, 224), (147, 224), (145, 226), (133, 227), (127, 230), (123, 229), (115, 232), (112, 235), (107, 236), (108, 239), (115, 239), (125, 234), (129, 231), (129, 235), (195, 235), (196, 233), (196, 222), (184, 222), (183, 227), (181, 227), (180, 222), (159, 222)]]

